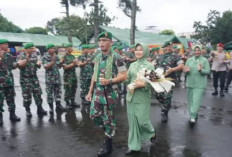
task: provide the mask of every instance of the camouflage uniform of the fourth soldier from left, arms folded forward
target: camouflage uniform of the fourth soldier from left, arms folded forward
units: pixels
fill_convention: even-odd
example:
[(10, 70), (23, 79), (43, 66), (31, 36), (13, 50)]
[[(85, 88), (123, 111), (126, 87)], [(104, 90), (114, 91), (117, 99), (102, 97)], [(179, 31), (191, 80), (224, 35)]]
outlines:
[[(63, 59), (63, 65), (69, 65), (73, 62), (75, 57), (72, 54), (66, 53)], [(71, 103), (73, 103), (77, 90), (77, 75), (75, 66), (71, 69), (64, 70), (64, 90), (64, 100), (66, 102), (71, 101)]]

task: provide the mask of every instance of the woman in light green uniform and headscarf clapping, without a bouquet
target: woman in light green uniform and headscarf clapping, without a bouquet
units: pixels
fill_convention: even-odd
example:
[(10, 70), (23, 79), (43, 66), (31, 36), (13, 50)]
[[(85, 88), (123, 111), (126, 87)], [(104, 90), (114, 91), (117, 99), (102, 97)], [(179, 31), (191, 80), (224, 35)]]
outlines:
[(201, 54), (201, 46), (193, 47), (194, 56), (185, 64), (184, 72), (187, 75), (187, 101), (190, 124), (195, 124), (202, 97), (207, 86), (207, 76), (210, 73), (208, 60)]

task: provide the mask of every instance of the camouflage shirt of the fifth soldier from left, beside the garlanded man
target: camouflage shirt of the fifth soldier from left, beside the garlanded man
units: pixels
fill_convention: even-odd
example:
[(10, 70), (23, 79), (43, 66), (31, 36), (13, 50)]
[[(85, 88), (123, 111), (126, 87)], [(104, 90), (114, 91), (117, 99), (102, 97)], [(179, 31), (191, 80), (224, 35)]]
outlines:
[[(82, 54), (78, 57), (78, 60), (81, 62), (85, 62), (88, 58), (92, 60), (92, 57), (88, 54)], [(80, 67), (80, 77), (81, 79), (91, 79), (93, 74), (93, 66), (91, 60), (85, 65)]]

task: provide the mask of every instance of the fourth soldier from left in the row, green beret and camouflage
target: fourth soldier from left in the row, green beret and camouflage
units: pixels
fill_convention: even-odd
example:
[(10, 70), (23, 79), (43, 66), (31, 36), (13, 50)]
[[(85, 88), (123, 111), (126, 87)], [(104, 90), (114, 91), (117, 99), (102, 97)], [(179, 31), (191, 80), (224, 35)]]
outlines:
[(62, 57), (61, 63), (64, 69), (64, 100), (68, 109), (74, 107), (80, 107), (75, 103), (75, 95), (77, 91), (77, 75), (76, 75), (76, 65), (77, 60), (71, 54), (72, 44), (67, 43), (64, 45), (66, 48), (66, 54)]

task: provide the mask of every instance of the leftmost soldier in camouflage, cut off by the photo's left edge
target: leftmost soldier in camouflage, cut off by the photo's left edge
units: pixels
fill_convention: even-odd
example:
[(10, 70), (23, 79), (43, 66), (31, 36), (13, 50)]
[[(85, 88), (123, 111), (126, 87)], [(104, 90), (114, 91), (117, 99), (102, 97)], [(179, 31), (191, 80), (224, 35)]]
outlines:
[(3, 123), (2, 112), (4, 98), (8, 105), (10, 112), (10, 120), (13, 122), (20, 121), (20, 118), (15, 115), (15, 90), (14, 90), (14, 78), (12, 69), (17, 67), (17, 64), (13, 63), (12, 55), (7, 53), (8, 40), (0, 39), (0, 125)]

